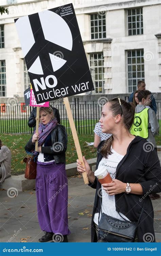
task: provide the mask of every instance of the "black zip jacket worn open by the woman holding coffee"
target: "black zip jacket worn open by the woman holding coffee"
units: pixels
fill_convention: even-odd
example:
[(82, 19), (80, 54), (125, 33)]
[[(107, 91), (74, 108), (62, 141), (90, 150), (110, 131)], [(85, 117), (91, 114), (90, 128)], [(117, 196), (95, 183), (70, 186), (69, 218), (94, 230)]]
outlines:
[[(97, 147), (96, 169), (103, 158), (101, 148), (104, 143), (105, 141), (101, 141)], [(117, 194), (115, 195), (115, 207), (116, 211), (123, 213), (130, 221), (137, 222), (146, 199), (137, 230), (138, 242), (145, 242), (144, 234), (146, 233), (151, 233), (152, 238), (154, 238), (152, 240), (155, 242), (154, 211), (148, 196), (161, 192), (161, 167), (155, 148), (152, 148), (146, 139), (136, 136), (129, 144), (126, 155), (117, 166), (115, 179), (124, 183), (141, 184), (143, 195)], [(89, 183), (89, 186), (96, 189), (91, 223), (91, 242), (97, 242), (93, 218), (95, 213), (100, 212), (100, 197), (97, 191), (101, 188), (101, 184), (96, 178), (94, 183)]]

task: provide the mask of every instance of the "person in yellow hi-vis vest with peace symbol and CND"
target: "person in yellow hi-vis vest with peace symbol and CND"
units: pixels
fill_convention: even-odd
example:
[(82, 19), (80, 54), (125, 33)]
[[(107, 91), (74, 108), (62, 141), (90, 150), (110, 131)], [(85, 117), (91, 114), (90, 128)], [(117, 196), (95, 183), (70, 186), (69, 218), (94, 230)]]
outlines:
[[(135, 136), (145, 138), (147, 141), (153, 143), (157, 149), (155, 135), (159, 133), (159, 123), (156, 113), (150, 108), (150, 94), (148, 90), (141, 90), (138, 92), (139, 104), (136, 106), (135, 118), (131, 127), (130, 133)], [(151, 200), (157, 199), (158, 194), (151, 194)]]

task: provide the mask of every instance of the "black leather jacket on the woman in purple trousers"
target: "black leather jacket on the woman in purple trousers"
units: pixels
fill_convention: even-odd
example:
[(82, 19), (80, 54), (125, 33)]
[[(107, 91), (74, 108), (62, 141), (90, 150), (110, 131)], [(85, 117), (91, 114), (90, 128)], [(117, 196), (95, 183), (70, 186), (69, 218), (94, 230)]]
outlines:
[[(65, 163), (67, 143), (68, 136), (66, 128), (59, 124), (56, 125), (44, 141), (44, 146), (41, 146), (41, 153), (44, 154), (44, 162), (55, 160), (56, 163)], [(35, 143), (32, 143), (31, 137), (29, 142), (25, 145), (25, 151), (31, 153), (34, 149)]]

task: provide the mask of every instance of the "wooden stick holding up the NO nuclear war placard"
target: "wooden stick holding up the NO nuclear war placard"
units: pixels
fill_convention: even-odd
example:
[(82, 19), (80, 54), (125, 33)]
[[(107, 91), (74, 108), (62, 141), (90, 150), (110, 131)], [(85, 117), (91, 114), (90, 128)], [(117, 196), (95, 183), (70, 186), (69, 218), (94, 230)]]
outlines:
[[(79, 144), (78, 134), (77, 134), (77, 132), (76, 132), (76, 128), (75, 128), (75, 124), (74, 124), (74, 120), (73, 120), (73, 115), (72, 115), (72, 111), (71, 111), (71, 108), (70, 108), (70, 104), (69, 104), (69, 99), (68, 99), (68, 97), (64, 98), (64, 103), (65, 103), (65, 106), (66, 106), (66, 111), (67, 111), (67, 115), (68, 115), (68, 119), (69, 119), (71, 131), (72, 131), (73, 140), (74, 140), (76, 152), (77, 152), (77, 155), (78, 155), (78, 159), (79, 159), (80, 162), (83, 163), (83, 166), (84, 166), (84, 161), (83, 161), (81, 146), (80, 146), (80, 144)], [(84, 167), (85, 167), (85, 166), (84, 166)], [(82, 175), (83, 175), (84, 183), (85, 183), (85, 184), (88, 184), (89, 181), (88, 181), (87, 173), (84, 172)]]

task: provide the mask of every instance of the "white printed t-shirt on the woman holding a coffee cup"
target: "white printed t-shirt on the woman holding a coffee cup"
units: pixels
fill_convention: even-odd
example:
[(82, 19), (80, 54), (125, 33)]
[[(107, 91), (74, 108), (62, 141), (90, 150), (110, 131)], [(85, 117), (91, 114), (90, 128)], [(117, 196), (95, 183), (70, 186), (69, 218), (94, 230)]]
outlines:
[[(107, 171), (109, 172), (109, 174), (111, 175), (112, 179), (115, 179), (115, 175), (116, 175), (116, 168), (118, 166), (118, 163), (123, 159), (123, 155), (118, 154), (117, 152), (115, 152), (113, 150), (113, 148), (111, 149), (112, 154), (108, 155), (108, 158), (103, 157), (102, 160), (99, 163), (99, 166), (104, 166), (105, 169), (107, 169)], [(101, 191), (99, 192), (99, 195), (102, 197), (102, 212), (104, 212), (105, 214), (112, 216), (114, 218), (120, 219), (121, 221), (124, 221), (123, 218), (121, 218), (121, 216), (123, 216), (127, 221), (129, 221), (129, 219), (122, 213), (119, 213), (116, 211), (115, 208), (115, 196), (110, 196), (101, 186)], [(100, 218), (101, 218), (101, 213), (100, 213)], [(99, 213), (95, 213), (94, 214), (94, 223), (96, 223), (98, 225), (98, 220), (99, 220)]]

